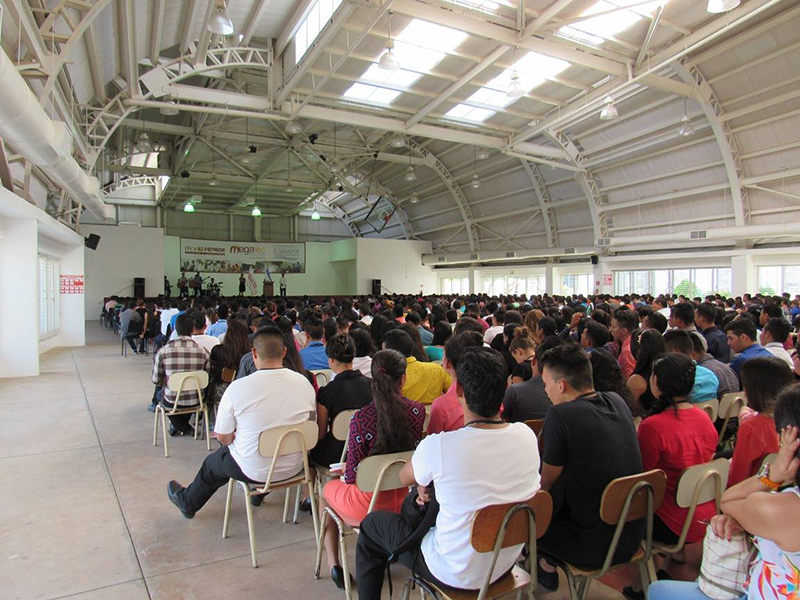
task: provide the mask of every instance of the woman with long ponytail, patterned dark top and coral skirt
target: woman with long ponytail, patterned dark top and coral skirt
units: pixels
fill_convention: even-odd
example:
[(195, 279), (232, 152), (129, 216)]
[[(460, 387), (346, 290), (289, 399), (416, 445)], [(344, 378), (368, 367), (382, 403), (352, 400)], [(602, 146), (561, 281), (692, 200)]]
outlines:
[[(381, 350), (372, 357), (372, 402), (358, 410), (350, 421), (344, 475), (325, 485), (320, 497), (320, 513), (330, 506), (346, 523), (353, 526), (361, 523), (367, 515), (372, 494), (356, 487), (359, 463), (368, 456), (414, 450), (422, 439), (425, 407), (403, 397), (401, 392), (406, 381), (406, 364), (405, 357), (396, 350)], [(338, 379), (339, 376), (334, 383)], [(405, 496), (405, 489), (381, 492), (375, 510), (399, 513)], [(325, 530), (325, 554), (331, 567), (331, 579), (338, 588), (344, 589), (339, 541), (336, 528), (330, 522)]]

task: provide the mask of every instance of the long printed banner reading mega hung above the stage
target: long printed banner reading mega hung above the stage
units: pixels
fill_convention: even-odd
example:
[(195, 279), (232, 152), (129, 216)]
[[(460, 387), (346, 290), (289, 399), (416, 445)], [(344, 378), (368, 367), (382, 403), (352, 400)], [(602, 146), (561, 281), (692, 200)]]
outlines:
[(305, 273), (302, 242), (216, 242), (181, 238), (186, 273)]

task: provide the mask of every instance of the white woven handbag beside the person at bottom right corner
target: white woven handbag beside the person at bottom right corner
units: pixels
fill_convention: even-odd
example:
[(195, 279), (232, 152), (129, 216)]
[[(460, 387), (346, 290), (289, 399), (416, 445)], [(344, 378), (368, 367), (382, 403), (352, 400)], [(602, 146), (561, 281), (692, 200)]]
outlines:
[(711, 525), (703, 540), (703, 562), (697, 580), (702, 591), (714, 600), (738, 600), (745, 584), (755, 547), (749, 537), (738, 533), (730, 541), (714, 533)]

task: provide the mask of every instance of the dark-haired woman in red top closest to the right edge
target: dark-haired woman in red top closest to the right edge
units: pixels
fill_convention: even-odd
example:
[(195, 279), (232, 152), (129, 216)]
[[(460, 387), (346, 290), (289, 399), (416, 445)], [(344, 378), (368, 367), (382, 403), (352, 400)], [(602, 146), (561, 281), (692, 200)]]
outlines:
[(764, 457), (780, 448), (775, 432), (775, 399), (794, 382), (785, 362), (773, 356), (751, 358), (742, 365), (742, 387), (747, 397), (747, 418), (739, 418), (739, 432), (733, 448), (728, 487), (758, 472)]

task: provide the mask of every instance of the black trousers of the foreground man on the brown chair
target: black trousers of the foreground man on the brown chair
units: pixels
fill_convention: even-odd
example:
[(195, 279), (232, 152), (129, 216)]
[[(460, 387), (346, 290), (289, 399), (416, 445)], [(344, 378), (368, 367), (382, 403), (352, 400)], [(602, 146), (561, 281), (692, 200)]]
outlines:
[[(376, 511), (361, 521), (356, 545), (356, 577), (361, 600), (378, 600), (381, 597), (389, 556), (412, 531), (412, 527), (400, 515), (392, 512)], [(404, 552), (398, 556), (398, 560), (427, 581), (444, 586), (428, 569), (419, 547)]]

